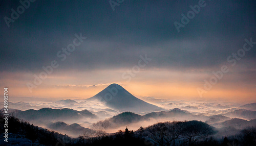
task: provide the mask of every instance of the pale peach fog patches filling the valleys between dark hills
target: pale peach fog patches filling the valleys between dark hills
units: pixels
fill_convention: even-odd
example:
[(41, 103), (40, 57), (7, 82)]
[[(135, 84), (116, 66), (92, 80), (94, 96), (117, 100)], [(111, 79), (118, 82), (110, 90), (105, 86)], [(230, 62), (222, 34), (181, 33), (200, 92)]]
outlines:
[[(162, 107), (166, 109), (166, 111), (172, 110), (174, 108), (179, 108), (181, 110), (188, 111), (190, 113), (193, 113), (194, 115), (199, 115), (197, 118), (189, 118), (189, 117), (172, 117), (172, 118), (161, 118), (161, 119), (150, 119), (145, 121), (139, 121), (137, 123), (127, 124), (127, 125), (121, 125), (120, 127), (106, 129), (106, 132), (113, 133), (117, 132), (118, 130), (124, 130), (126, 127), (128, 127), (130, 130), (138, 130), (141, 126), (147, 127), (150, 125), (153, 125), (158, 122), (163, 121), (182, 121), (182, 120), (201, 120), (206, 121), (205, 117), (202, 118), (200, 115), (204, 116), (211, 116), (211, 115), (218, 115), (218, 114), (225, 114), (230, 111), (234, 111), (237, 109), (240, 109), (239, 107), (243, 104), (239, 103), (231, 103), (231, 102), (198, 102), (198, 101), (172, 101), (172, 100), (163, 100), (163, 99), (154, 99), (154, 98), (140, 98), (144, 100), (145, 102), (157, 105), (159, 107)], [(2, 103), (1, 103), (2, 104)], [(3, 107), (3, 105), (0, 105)], [(102, 102), (97, 101), (89, 101), (89, 100), (62, 100), (62, 101), (31, 101), (31, 102), (11, 102), (9, 103), (9, 109), (18, 109), (18, 110), (28, 110), (28, 109), (34, 109), (39, 110), (41, 108), (52, 108), (52, 109), (63, 109), (63, 108), (70, 108), (77, 111), (82, 110), (88, 110), (92, 112), (93, 114), (97, 115), (97, 118), (95, 119), (82, 119), (79, 121), (72, 121), (72, 120), (65, 120), (65, 119), (59, 119), (58, 121), (63, 121), (67, 124), (73, 124), (77, 123), (82, 127), (85, 128), (91, 128), (93, 123), (96, 123), (99, 120), (104, 120), (106, 118), (113, 117), (114, 115), (120, 114), (120, 111), (111, 109), (110, 107), (107, 107)], [(146, 113), (137, 113), (140, 115), (144, 115)], [(256, 117), (255, 117), (256, 118)], [(29, 121), (32, 124), (35, 124), (42, 128), (47, 128), (47, 123), (38, 123), (38, 121)], [(56, 121), (51, 121), (56, 122)], [(58, 130), (58, 132), (67, 134), (65, 131)], [(70, 134), (70, 133), (69, 133)], [(70, 136), (77, 136), (77, 135), (71, 135)]]

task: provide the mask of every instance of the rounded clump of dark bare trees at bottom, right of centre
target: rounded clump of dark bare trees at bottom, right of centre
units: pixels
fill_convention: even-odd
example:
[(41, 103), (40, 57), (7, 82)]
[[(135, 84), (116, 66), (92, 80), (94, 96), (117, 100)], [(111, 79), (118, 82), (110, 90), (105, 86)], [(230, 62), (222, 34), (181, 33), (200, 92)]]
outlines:
[(154, 145), (176, 145), (176, 142), (183, 145), (193, 145), (199, 140), (204, 140), (214, 134), (213, 127), (202, 121), (173, 121), (158, 123), (147, 127), (144, 130), (144, 138)]

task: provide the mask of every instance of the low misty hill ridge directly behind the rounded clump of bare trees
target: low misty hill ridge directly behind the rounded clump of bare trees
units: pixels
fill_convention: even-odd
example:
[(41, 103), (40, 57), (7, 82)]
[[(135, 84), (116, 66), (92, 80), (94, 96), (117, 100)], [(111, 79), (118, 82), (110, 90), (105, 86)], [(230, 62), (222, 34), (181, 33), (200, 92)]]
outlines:
[[(148, 123), (154, 124), (156, 121), (173, 121), (173, 120), (201, 120), (205, 121), (205, 123), (211, 126), (223, 127), (225, 125), (232, 126), (236, 128), (236, 125), (240, 124), (240, 121), (246, 121), (243, 119), (233, 118), (224, 116), (224, 115), (212, 115), (212, 116), (205, 116), (203, 114), (193, 114), (188, 111), (184, 111), (178, 108), (175, 108), (170, 111), (160, 111), (160, 112), (151, 112), (145, 115), (139, 115), (132, 112), (123, 112), (121, 114), (115, 115), (111, 118), (98, 121), (94, 123), (92, 127), (101, 127), (104, 129), (108, 128), (118, 128), (124, 127), (128, 125), (140, 125), (141, 123)], [(136, 124), (140, 123), (140, 124)], [(228, 123), (228, 124), (226, 124)], [(250, 122), (246, 123), (245, 126), (256, 126), (255, 120), (251, 120)], [(245, 128), (243, 126), (243, 128)], [(139, 128), (139, 127), (138, 127)]]

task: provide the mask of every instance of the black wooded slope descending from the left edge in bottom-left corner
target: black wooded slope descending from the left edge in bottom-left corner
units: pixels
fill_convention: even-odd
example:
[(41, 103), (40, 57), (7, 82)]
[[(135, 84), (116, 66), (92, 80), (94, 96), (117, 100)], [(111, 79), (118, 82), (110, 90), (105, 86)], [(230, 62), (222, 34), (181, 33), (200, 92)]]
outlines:
[[(3, 119), (3, 114), (0, 114), (0, 119)], [(4, 123), (1, 122), (0, 132), (4, 133)], [(32, 143), (44, 144), (44, 145), (58, 145), (63, 141), (67, 143), (76, 142), (75, 139), (70, 138), (67, 135), (49, 131), (47, 129), (38, 128), (33, 124), (29, 124), (27, 121), (20, 120), (14, 116), (8, 118), (8, 142), (4, 145), (12, 145), (13, 143), (22, 144), (19, 139), (29, 139)], [(3, 137), (1, 139), (4, 141)], [(3, 142), (1, 142), (3, 143)], [(61, 144), (59, 144), (61, 145)]]

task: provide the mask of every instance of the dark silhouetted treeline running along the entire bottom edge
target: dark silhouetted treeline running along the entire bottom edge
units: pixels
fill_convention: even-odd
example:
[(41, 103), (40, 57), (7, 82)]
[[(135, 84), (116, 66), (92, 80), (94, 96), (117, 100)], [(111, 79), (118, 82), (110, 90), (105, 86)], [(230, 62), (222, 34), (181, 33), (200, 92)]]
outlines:
[[(3, 115), (1, 117), (3, 119)], [(1, 133), (4, 126), (1, 123)], [(80, 131), (78, 131), (80, 132)], [(8, 119), (8, 133), (17, 138), (29, 139), (32, 143), (43, 145), (256, 145), (256, 129), (249, 127), (234, 136), (214, 138), (218, 131), (202, 121), (173, 121), (157, 123), (148, 127), (140, 127), (137, 131), (126, 128), (116, 133), (108, 134), (104, 130), (87, 130), (78, 138), (38, 128), (26, 121), (10, 116)], [(218, 134), (218, 133), (217, 133)], [(3, 140), (3, 139), (2, 139)], [(9, 139), (11, 142), (11, 139)]]

